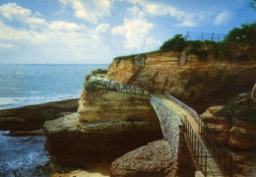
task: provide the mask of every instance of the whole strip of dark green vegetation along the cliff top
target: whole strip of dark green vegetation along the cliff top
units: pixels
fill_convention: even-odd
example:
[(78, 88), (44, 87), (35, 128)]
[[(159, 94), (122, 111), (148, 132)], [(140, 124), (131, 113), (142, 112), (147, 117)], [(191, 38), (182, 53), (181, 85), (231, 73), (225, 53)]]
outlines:
[[(251, 46), (248, 49), (247, 46)], [(241, 28), (231, 29), (225, 36), (223, 41), (213, 40), (187, 40), (187, 36), (182, 34), (176, 34), (171, 39), (166, 40), (160, 46), (159, 50), (147, 52), (160, 53), (167, 51), (185, 51), (186, 54), (196, 54), (199, 56), (199, 60), (207, 60), (208, 55), (214, 55), (217, 58), (224, 60), (256, 60), (256, 54), (254, 49), (256, 47), (256, 22), (252, 24), (242, 24)], [(250, 47), (249, 47), (250, 48)], [(250, 50), (250, 51), (245, 51)], [(248, 56), (248, 53), (250, 56)], [(142, 54), (142, 53), (140, 53)], [(127, 56), (119, 56), (114, 58), (128, 59), (140, 54), (132, 54)]]

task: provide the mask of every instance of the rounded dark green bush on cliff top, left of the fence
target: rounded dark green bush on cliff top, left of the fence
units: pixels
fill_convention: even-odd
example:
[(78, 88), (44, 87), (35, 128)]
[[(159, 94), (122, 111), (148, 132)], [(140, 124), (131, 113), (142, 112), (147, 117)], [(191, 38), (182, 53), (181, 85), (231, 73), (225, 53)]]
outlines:
[(174, 37), (165, 41), (160, 46), (160, 51), (165, 52), (169, 50), (174, 50), (174, 51), (181, 52), (185, 46), (186, 46), (186, 41), (182, 36), (182, 34), (176, 34), (174, 35)]

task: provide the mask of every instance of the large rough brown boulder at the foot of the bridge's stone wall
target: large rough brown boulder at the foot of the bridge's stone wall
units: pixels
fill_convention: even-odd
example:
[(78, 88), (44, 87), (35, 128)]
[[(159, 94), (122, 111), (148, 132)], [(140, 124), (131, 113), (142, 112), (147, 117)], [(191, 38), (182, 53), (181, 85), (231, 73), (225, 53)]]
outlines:
[(111, 177), (174, 176), (175, 160), (167, 142), (157, 141), (137, 148), (114, 160)]

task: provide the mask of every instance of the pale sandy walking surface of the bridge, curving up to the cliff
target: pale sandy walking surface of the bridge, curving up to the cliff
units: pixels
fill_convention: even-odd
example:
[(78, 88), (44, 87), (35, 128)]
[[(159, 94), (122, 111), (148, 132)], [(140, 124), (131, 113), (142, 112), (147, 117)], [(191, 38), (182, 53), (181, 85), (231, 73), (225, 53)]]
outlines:
[[(198, 127), (198, 123), (196, 122), (195, 118), (184, 108), (182, 108), (181, 105), (177, 104), (175, 101), (167, 98), (164, 94), (154, 94), (155, 96), (157, 96), (158, 98), (160, 98), (160, 100), (162, 102), (164, 102), (167, 106), (169, 106), (171, 109), (173, 109), (181, 118), (182, 122), (185, 122), (185, 117), (187, 118), (187, 120), (189, 121), (191, 127), (193, 128), (194, 132), (196, 133), (201, 145), (203, 146), (203, 148), (205, 148), (207, 155), (209, 156), (207, 158), (207, 176), (224, 176), (221, 169), (219, 168), (218, 164), (216, 163), (215, 159), (213, 158), (212, 154), (210, 153), (210, 151), (208, 150), (208, 148), (205, 146), (200, 132), (199, 132), (199, 127)], [(187, 144), (189, 146), (189, 144)]]

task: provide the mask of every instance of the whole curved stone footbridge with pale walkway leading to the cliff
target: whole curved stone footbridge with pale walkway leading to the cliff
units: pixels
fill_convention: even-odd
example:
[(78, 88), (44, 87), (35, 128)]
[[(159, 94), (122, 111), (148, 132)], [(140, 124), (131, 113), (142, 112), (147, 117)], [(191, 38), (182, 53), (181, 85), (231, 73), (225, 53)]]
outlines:
[(224, 175), (224, 170), (218, 165), (222, 164), (220, 153), (218, 161), (216, 154), (212, 155), (205, 145), (201, 133), (203, 122), (193, 108), (167, 93), (151, 95), (151, 104), (160, 119), (163, 138), (168, 142), (174, 158), (178, 156), (179, 125), (183, 125), (186, 145), (197, 169), (196, 176), (232, 176), (229, 171)]

